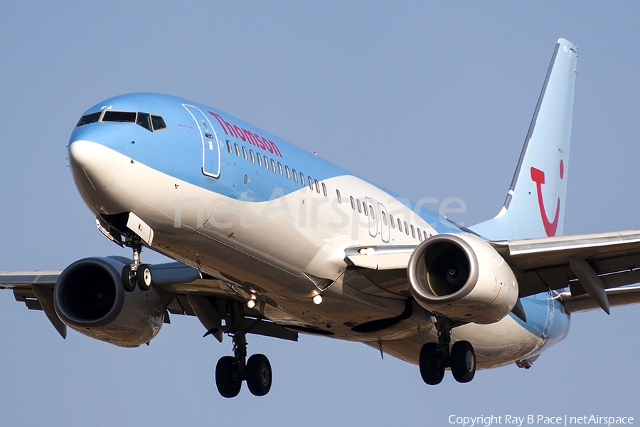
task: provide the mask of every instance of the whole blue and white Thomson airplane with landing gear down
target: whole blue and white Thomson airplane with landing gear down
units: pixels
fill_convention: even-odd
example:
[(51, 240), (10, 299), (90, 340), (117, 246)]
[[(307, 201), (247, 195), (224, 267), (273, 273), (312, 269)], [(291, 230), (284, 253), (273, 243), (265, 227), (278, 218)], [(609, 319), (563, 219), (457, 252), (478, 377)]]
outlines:
[[(97, 228), (132, 258), (0, 272), (0, 288), (120, 347), (195, 316), (233, 355), (220, 395), (272, 385), (247, 334), (362, 342), (449, 369), (530, 368), (575, 312), (640, 302), (640, 231), (562, 236), (577, 48), (560, 38), (498, 215), (464, 227), (232, 115), (152, 93), (87, 110), (67, 146)], [(143, 249), (174, 260), (143, 261)]]

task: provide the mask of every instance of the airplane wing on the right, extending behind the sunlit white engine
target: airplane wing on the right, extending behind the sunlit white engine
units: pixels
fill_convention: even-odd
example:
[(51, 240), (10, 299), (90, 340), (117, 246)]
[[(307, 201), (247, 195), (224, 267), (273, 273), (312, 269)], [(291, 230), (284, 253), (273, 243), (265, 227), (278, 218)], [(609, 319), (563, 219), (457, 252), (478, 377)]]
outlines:
[[(488, 243), (511, 265), (520, 297), (569, 288), (559, 299), (570, 312), (601, 307), (608, 313), (610, 305), (640, 302), (640, 288), (622, 288), (640, 283), (640, 230)], [(345, 253), (353, 268), (400, 272), (415, 248), (367, 246)]]

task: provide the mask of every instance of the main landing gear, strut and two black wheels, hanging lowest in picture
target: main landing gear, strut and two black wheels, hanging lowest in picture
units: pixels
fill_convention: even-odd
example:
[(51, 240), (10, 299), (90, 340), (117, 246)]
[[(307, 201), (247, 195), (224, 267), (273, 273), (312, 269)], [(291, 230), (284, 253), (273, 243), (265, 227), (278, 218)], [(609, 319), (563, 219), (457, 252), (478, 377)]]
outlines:
[(272, 371), (269, 359), (264, 354), (253, 354), (247, 360), (247, 327), (244, 310), (234, 302), (229, 317), (233, 330), (233, 356), (221, 357), (215, 365), (215, 385), (223, 397), (235, 397), (240, 393), (242, 381), (254, 396), (265, 396), (271, 389)]

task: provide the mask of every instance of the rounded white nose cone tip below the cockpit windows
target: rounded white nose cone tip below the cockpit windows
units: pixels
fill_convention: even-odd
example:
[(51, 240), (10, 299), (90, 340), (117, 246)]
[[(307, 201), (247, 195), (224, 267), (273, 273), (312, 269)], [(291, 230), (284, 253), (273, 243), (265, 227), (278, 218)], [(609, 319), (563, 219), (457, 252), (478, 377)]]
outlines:
[(69, 164), (76, 184), (88, 181), (96, 191), (113, 184), (122, 167), (122, 154), (84, 139), (69, 144)]

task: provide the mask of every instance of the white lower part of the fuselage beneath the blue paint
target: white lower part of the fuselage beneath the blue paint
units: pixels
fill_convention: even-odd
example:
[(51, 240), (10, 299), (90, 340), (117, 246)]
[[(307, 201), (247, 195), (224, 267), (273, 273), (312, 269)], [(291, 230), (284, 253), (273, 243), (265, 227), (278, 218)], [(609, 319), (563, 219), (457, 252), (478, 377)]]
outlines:
[[(251, 201), (251, 176), (246, 184), (233, 184), (241, 195), (235, 199), (176, 179), (95, 142), (73, 142), (70, 158), (78, 189), (95, 214), (134, 212), (154, 229), (154, 251), (233, 283), (242, 297), (255, 292), (267, 302), (265, 315), (274, 322), (314, 328), (376, 347), (381, 343), (385, 352), (413, 363), (423, 342), (437, 341), (430, 317), (421, 307), (409, 319), (384, 330), (363, 333), (351, 329), (400, 315), (409, 294), (351, 287), (344, 280), (343, 250), (420, 243), (397, 227), (383, 225), (380, 209), (427, 234), (435, 233), (400, 201), (366, 181), (338, 176), (323, 181), (327, 196), (305, 186), (287, 194), (274, 191), (272, 200), (257, 202)], [(261, 173), (265, 174), (262, 179), (272, 174)], [(341, 190), (341, 203), (336, 189)], [(349, 196), (375, 206), (378, 218), (372, 220), (351, 209)], [(312, 300), (319, 289), (309, 275), (334, 281), (321, 292), (320, 305)], [(557, 310), (553, 303), (547, 306)], [(546, 336), (544, 330), (530, 332), (507, 316), (491, 325), (457, 327), (452, 340), (459, 339), (473, 344), (477, 366), (486, 368), (530, 357), (540, 351)]]

